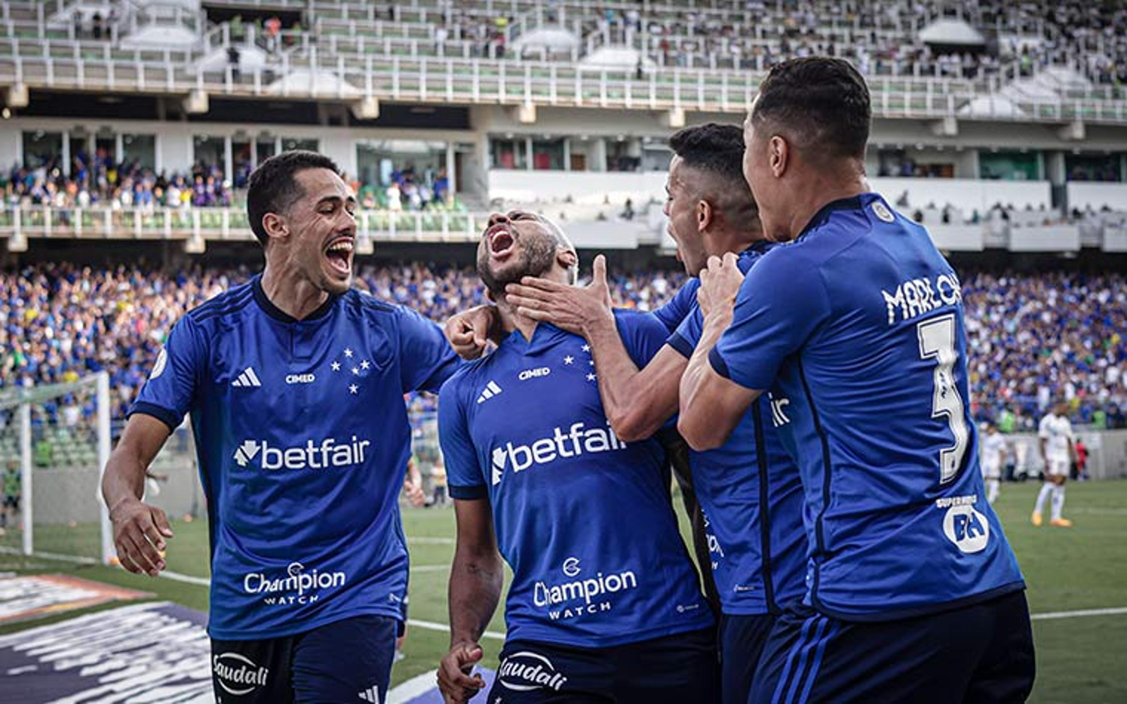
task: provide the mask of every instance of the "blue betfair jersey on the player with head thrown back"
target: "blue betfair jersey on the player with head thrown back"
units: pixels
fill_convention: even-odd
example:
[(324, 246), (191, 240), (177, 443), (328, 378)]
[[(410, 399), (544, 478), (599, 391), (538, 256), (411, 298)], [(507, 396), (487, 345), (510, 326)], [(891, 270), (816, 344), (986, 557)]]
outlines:
[[(616, 312), (637, 364), (665, 340), (645, 313)], [(711, 613), (677, 531), (657, 440), (615, 437), (589, 346), (547, 323), (513, 332), (438, 399), (455, 499), (488, 499), (513, 568), (508, 638), (604, 648), (708, 626)]]

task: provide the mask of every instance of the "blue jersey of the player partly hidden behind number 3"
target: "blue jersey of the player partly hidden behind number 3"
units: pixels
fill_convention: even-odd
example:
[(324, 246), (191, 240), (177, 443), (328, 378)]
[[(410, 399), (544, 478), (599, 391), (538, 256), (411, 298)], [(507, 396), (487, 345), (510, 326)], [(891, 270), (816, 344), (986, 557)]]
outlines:
[[(740, 270), (751, 269), (770, 248), (762, 242), (740, 252)], [(694, 300), (669, 337), (669, 346), (691, 357), (702, 323)], [(712, 577), (725, 614), (778, 613), (780, 604), (806, 590), (802, 485), (775, 429), (786, 419), (786, 415), (772, 416), (764, 395), (721, 447), (690, 452), (693, 487), (708, 522)]]

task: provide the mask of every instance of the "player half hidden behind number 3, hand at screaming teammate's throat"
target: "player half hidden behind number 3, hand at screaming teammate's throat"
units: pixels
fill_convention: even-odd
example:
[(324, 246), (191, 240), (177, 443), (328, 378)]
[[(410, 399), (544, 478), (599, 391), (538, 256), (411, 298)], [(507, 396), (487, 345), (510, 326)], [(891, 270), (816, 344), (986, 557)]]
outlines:
[[(739, 268), (746, 271), (772, 243), (763, 239), (755, 199), (744, 181), (743, 130), (687, 127), (669, 139), (669, 148), (674, 157), (665, 214), (685, 271), (695, 277), (708, 257), (726, 252), (738, 252)], [(518, 313), (587, 339), (606, 416), (619, 438), (629, 443), (653, 435), (676, 412), (681, 375), (700, 338), (702, 315), (693, 301), (667, 344), (639, 371), (615, 328), (601, 261), (596, 259), (594, 282), (586, 288), (525, 279), (525, 285), (509, 285), (506, 298)], [(764, 395), (722, 447), (690, 455), (719, 592), (725, 703), (747, 702), (780, 605), (805, 591), (801, 484), (775, 429), (788, 421), (786, 408), (773, 409)]]

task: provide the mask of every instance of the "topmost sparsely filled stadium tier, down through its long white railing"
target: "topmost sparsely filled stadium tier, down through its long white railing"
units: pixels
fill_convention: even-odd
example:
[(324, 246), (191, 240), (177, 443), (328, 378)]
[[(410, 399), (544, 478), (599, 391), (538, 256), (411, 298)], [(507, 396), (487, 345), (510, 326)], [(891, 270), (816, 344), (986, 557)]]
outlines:
[[(1116, 84), (1122, 8), (961, 5), (956, 21), (956, 5), (940, 1), (212, 0), (192, 11), (8, 0), (0, 82), (739, 113), (774, 61), (835, 53), (870, 78), (879, 116), (1127, 124)], [(286, 24), (256, 29), (272, 16)], [(232, 46), (242, 53), (237, 64), (225, 60)]]

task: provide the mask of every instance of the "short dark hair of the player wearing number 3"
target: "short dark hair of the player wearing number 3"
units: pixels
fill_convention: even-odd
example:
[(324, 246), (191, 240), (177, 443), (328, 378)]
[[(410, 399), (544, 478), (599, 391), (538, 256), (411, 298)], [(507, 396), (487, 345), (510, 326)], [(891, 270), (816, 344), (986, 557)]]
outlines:
[(844, 59), (806, 56), (771, 66), (752, 109), (756, 128), (786, 128), (809, 154), (864, 159), (872, 106), (864, 79)]

